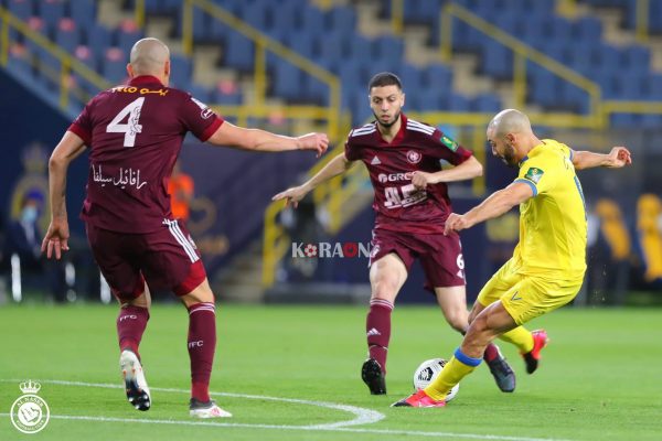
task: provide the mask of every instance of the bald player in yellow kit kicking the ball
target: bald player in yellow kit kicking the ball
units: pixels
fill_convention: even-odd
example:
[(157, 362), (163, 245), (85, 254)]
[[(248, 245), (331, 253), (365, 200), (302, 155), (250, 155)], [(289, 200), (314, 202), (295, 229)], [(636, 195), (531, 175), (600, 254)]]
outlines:
[(599, 154), (541, 140), (526, 115), (514, 109), (498, 114), (487, 135), (492, 153), (519, 168), (519, 176), (466, 214), (452, 213), (445, 234), (470, 228), (520, 205), (520, 243), (478, 295), (471, 324), (455, 356), (433, 384), (393, 406), (444, 407), (446, 394), (476, 369), (495, 337), (517, 345), (527, 372), (535, 370), (547, 337), (544, 331), (532, 333), (522, 324), (572, 301), (586, 270), (586, 211), (575, 170), (621, 168), (632, 162), (622, 147)]

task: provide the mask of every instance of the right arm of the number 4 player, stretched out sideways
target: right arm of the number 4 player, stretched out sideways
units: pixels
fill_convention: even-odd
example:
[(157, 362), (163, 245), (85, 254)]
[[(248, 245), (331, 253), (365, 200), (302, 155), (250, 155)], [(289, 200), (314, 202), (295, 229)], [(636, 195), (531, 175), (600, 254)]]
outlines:
[(235, 147), (243, 150), (279, 152), (288, 150), (314, 150), (319, 158), (329, 147), (324, 133), (307, 133), (300, 137), (286, 137), (259, 129), (245, 129), (227, 121), (207, 139), (215, 146)]

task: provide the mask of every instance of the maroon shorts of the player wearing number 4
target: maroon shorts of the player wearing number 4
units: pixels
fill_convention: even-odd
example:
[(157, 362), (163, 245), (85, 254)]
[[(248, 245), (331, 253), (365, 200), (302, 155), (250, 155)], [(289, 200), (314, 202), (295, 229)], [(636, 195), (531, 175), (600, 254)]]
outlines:
[(150, 289), (184, 295), (206, 278), (200, 252), (179, 220), (147, 234), (110, 232), (89, 223), (86, 230), (94, 258), (121, 301), (140, 295), (146, 281)]

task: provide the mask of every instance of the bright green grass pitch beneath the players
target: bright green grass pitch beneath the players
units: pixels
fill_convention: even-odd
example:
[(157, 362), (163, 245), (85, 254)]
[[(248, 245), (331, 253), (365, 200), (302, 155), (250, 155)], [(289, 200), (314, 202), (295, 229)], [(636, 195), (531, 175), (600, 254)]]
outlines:
[[(360, 379), (363, 306), (217, 308), (212, 390), (234, 413), (188, 417), (188, 315), (156, 305), (141, 345), (153, 406), (134, 410), (120, 386), (115, 306), (0, 308), (0, 440), (660, 440), (662, 309), (564, 309), (531, 323), (552, 340), (528, 376), (500, 392), (487, 367), (461, 384), (445, 409), (389, 405), (412, 392), (426, 358), (448, 358), (460, 342), (434, 306), (394, 311), (388, 395)], [(40, 380), (49, 424), (28, 435), (9, 411), (19, 383)]]

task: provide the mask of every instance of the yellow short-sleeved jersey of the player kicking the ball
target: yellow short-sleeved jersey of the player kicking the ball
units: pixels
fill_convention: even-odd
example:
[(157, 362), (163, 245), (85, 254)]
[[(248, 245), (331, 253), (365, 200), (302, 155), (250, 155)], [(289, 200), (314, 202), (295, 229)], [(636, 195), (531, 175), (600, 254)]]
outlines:
[(576, 279), (586, 271), (586, 209), (573, 151), (553, 139), (520, 162), (515, 182), (534, 196), (520, 204), (520, 243), (514, 259), (523, 273)]

